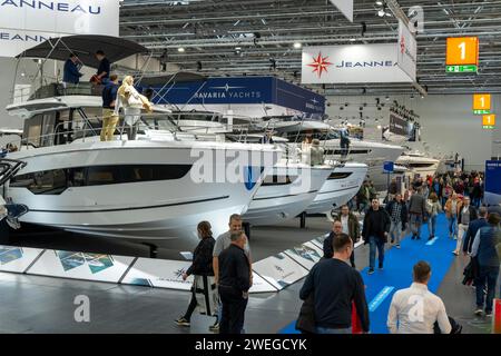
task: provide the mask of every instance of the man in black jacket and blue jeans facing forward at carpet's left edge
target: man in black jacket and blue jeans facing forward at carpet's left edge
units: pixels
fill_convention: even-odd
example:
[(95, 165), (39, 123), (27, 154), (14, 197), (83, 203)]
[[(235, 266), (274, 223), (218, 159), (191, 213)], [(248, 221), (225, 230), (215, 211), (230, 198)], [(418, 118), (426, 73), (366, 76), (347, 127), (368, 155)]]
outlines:
[(384, 244), (387, 241), (391, 221), (386, 210), (380, 208), (380, 200), (373, 199), (372, 206), (364, 218), (364, 226), (362, 229), (362, 238), (364, 244), (370, 244), (369, 254), (369, 274), (374, 273), (375, 254), (377, 248), (379, 268), (383, 269), (384, 263)]

